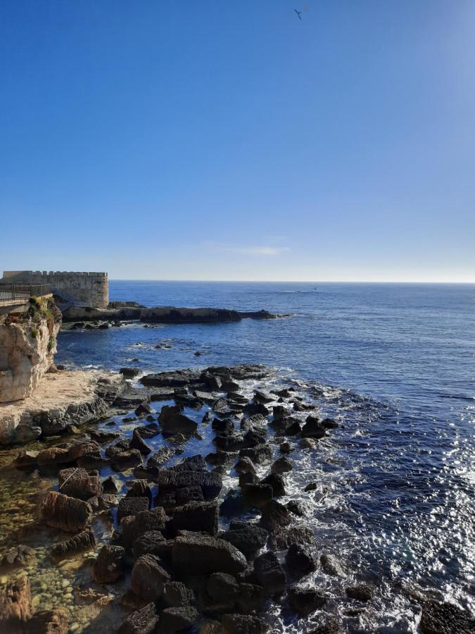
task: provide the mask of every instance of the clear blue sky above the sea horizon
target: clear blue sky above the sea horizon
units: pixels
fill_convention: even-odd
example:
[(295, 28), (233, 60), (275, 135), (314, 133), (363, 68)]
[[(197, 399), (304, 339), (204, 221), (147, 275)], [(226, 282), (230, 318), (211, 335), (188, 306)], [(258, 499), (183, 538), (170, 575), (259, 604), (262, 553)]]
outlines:
[(3, 0), (0, 73), (0, 270), (475, 280), (473, 0)]

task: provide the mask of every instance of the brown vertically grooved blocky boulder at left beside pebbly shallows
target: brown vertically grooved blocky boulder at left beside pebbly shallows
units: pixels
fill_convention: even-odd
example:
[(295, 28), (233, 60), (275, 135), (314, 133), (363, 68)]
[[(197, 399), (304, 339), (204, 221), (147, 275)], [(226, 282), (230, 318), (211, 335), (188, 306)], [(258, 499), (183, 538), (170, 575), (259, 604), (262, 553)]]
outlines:
[(92, 519), (91, 505), (75, 497), (50, 491), (42, 505), (42, 521), (46, 526), (79, 533)]

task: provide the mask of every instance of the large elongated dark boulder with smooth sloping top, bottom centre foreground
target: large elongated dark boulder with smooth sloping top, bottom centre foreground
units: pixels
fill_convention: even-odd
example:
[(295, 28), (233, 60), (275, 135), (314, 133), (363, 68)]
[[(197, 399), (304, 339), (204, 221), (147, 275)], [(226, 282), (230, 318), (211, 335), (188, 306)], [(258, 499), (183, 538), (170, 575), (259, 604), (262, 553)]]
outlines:
[(192, 533), (175, 539), (172, 564), (177, 573), (200, 575), (214, 572), (235, 575), (247, 566), (246, 557), (229, 542)]

